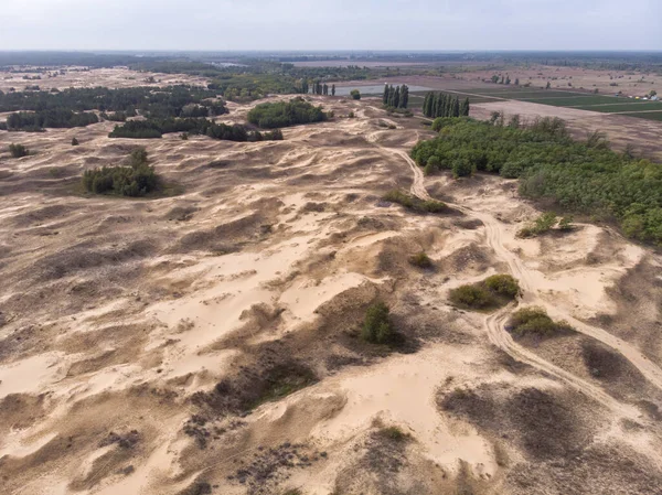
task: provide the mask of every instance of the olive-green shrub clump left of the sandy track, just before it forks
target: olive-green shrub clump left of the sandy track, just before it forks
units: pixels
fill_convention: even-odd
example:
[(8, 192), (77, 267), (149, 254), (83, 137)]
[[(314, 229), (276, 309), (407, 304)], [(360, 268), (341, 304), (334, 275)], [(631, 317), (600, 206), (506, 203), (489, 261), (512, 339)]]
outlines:
[(452, 289), (450, 301), (460, 308), (491, 310), (504, 306), (521, 292), (520, 284), (510, 275), (493, 275), (487, 279)]

